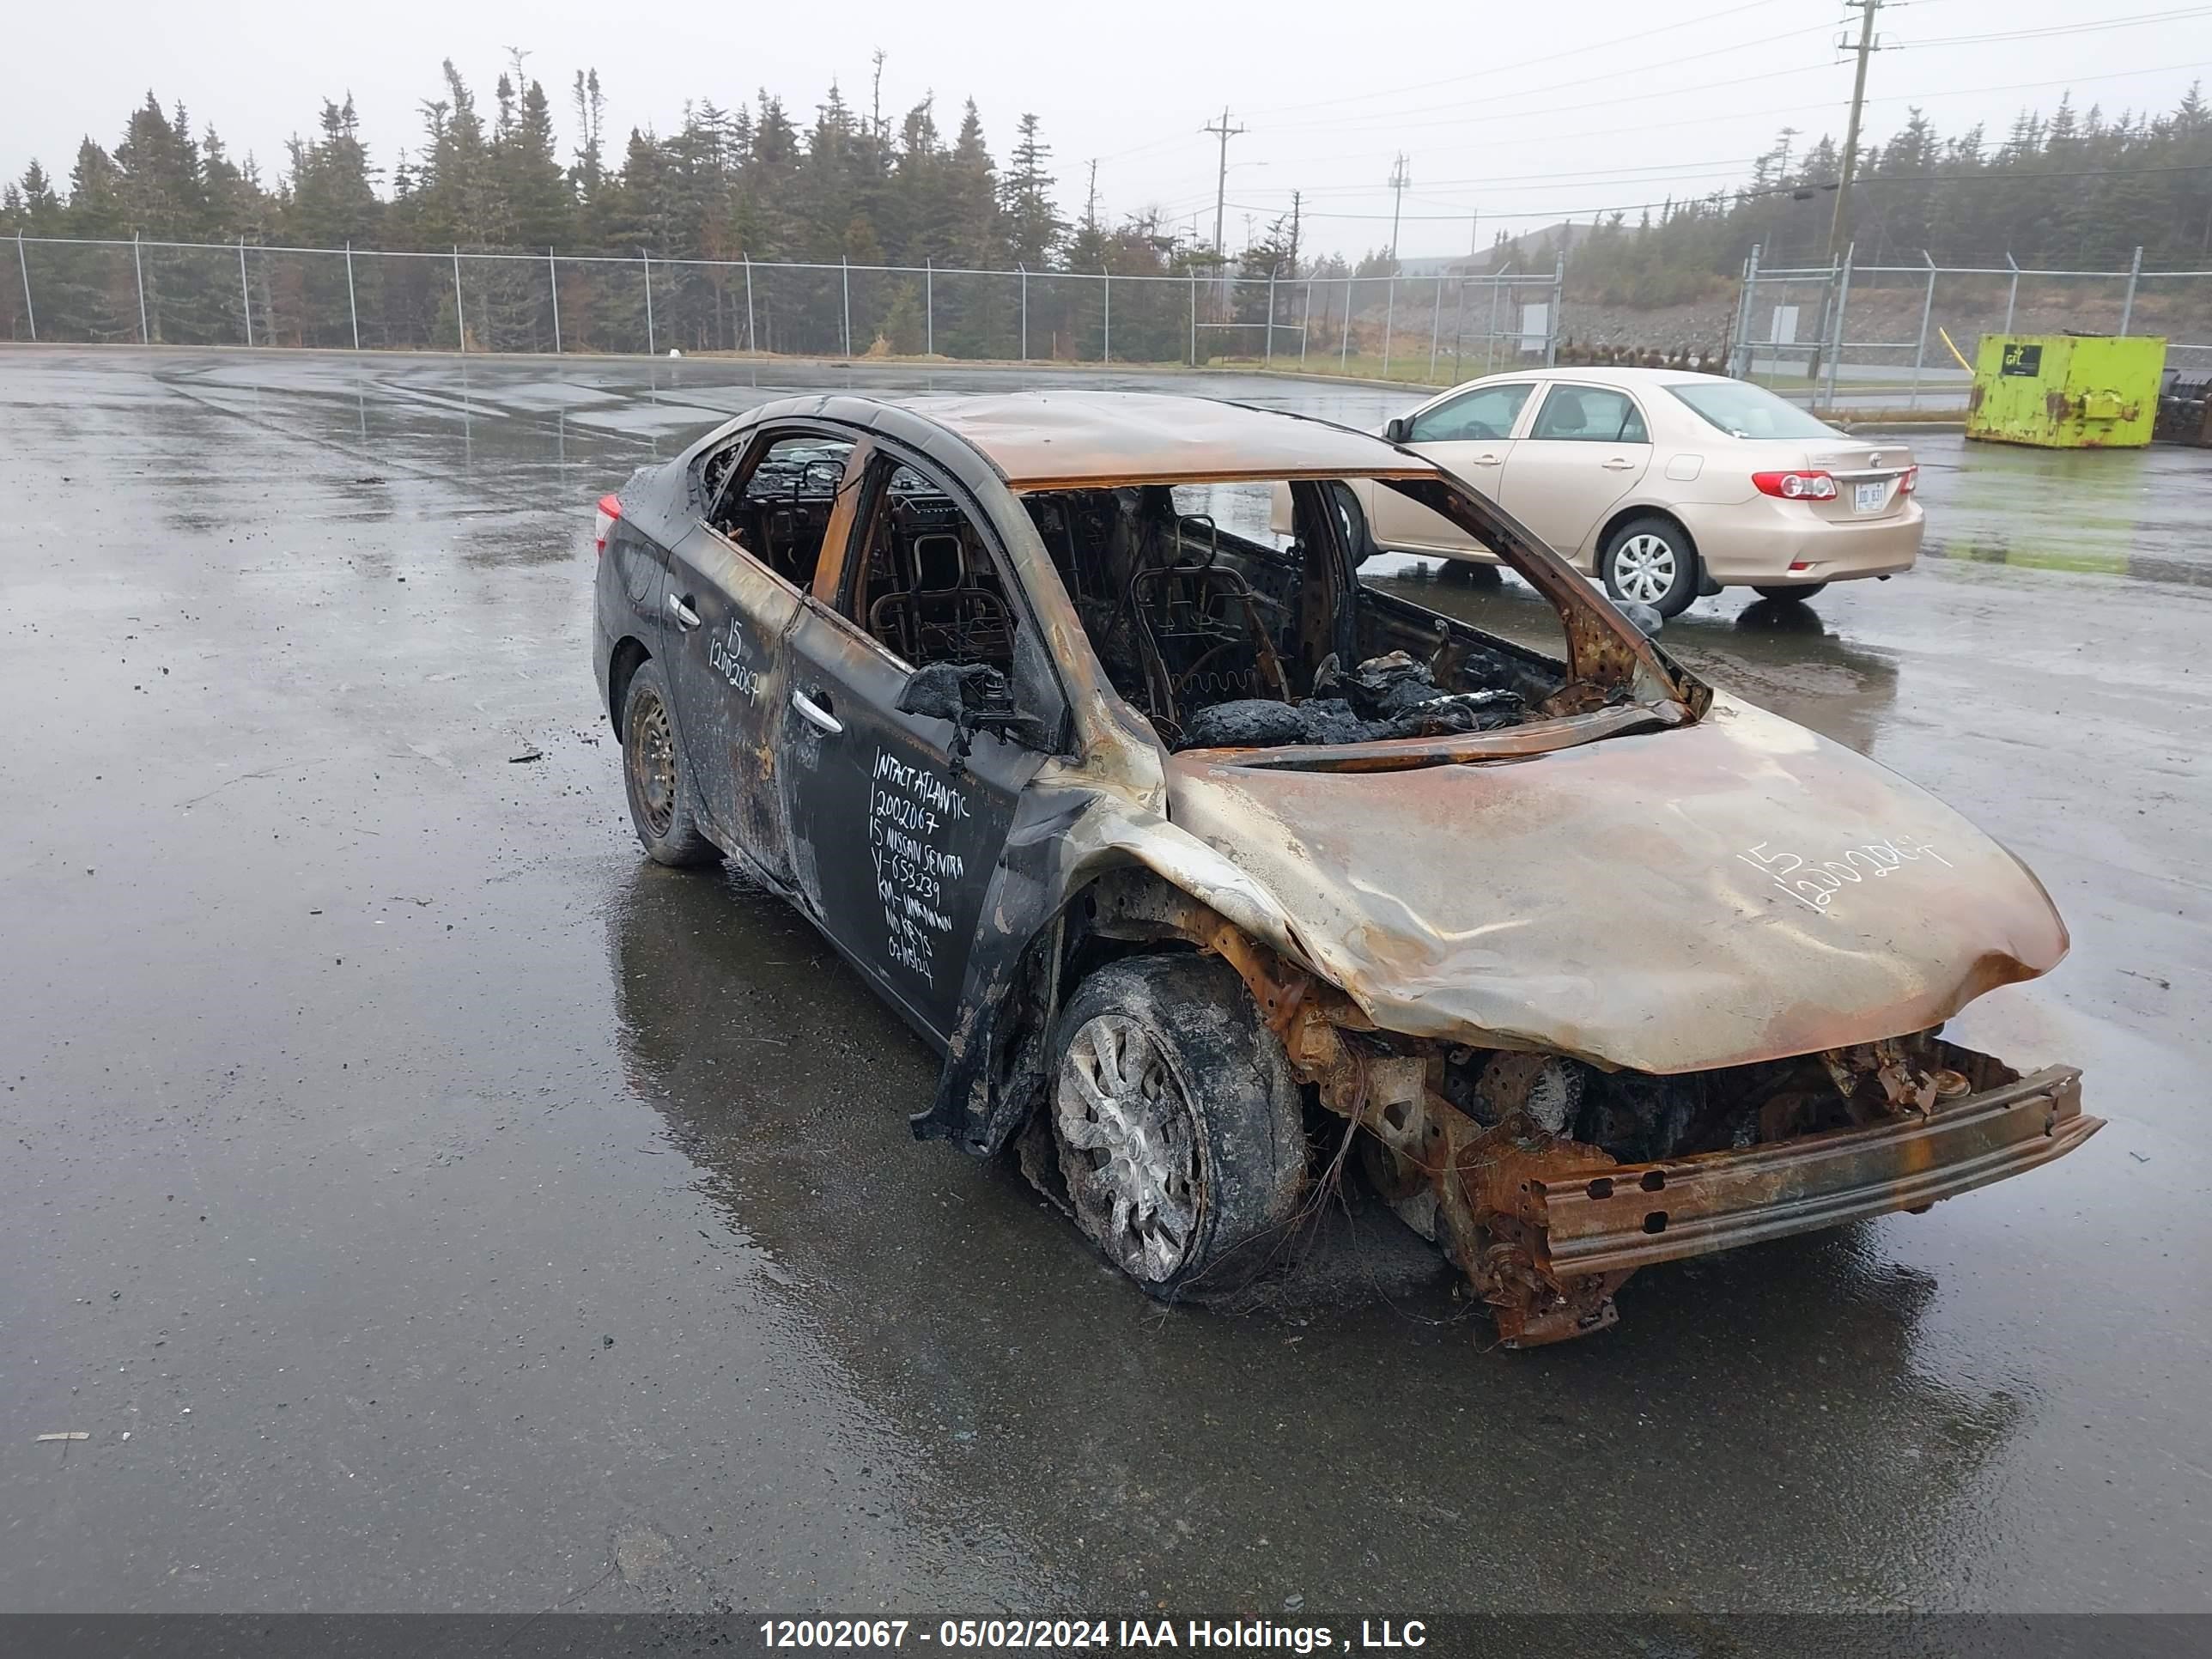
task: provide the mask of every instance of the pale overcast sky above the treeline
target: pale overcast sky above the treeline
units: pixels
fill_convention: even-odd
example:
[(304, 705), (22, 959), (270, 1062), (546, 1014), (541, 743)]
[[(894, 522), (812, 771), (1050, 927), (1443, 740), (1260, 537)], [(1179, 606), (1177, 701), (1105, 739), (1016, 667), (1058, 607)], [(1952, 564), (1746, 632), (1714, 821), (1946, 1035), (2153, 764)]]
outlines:
[[(869, 104), (869, 55), (887, 53), (883, 108), (927, 93), (951, 135), (960, 102), (982, 108), (1004, 161), (1022, 111), (1053, 146), (1060, 199), (1082, 210), (1099, 157), (1102, 212), (1161, 208), (1212, 237), (1219, 122), (1230, 139), (1228, 241), (1245, 217), (1305, 192), (1307, 246), (1358, 252), (1389, 241), (1387, 177), (1405, 153), (1400, 254), (1467, 252), (1469, 215), (1486, 243), (1599, 208), (1701, 195), (1743, 179), (1752, 157), (1796, 126), (1798, 144), (1843, 135), (1851, 69), (1834, 42), (1840, 4), (1818, 0), (1577, 0), (1553, 7), (1037, 4), (719, 4), (608, 7), (580, 0), (106, 0), (97, 15), (60, 4), (13, 9), (0, 168), (35, 155), (66, 181), (77, 139), (113, 146), (150, 88), (215, 124), (265, 179), (283, 142), (312, 131), (323, 97), (354, 95), (372, 157), (387, 173), (414, 148), (420, 100), (451, 55), (491, 111), (511, 46), (546, 84), (573, 142), (568, 82), (595, 66), (608, 128), (670, 131), (686, 100), (732, 106), (759, 86), (810, 122), (830, 82)], [(197, 13), (197, 15), (195, 15)], [(1851, 13), (1856, 18), (1856, 13)], [(2141, 22), (2137, 22), (2141, 20)], [(2212, 4), (2117, 0), (1893, 0), (1882, 7), (1867, 128), (1889, 135), (1913, 104), (1944, 133), (1980, 119), (2002, 137), (2022, 106), (2172, 108), (2212, 69)], [(35, 66), (35, 69), (33, 69)]]

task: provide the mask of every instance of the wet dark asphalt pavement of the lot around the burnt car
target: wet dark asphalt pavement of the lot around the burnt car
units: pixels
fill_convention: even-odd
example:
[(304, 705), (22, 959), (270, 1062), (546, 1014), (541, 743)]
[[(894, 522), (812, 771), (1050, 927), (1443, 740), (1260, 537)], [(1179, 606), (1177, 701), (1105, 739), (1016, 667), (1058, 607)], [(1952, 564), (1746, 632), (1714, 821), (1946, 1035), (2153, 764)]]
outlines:
[(639, 858), (591, 502), (925, 378), (0, 354), (0, 1608), (2212, 1608), (2212, 453), (1920, 434), (1916, 573), (1666, 635), (2039, 872), (2073, 958), (1953, 1035), (2110, 1128), (1502, 1354), (1409, 1234), (1146, 1303)]

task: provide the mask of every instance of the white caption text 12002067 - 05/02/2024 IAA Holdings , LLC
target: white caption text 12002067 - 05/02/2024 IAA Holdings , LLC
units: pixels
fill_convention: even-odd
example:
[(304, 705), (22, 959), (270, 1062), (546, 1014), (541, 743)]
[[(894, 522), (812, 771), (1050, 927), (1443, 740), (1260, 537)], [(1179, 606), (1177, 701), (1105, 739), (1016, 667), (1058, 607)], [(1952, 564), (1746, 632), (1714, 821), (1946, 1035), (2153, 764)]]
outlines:
[(936, 1628), (918, 1619), (763, 1619), (768, 1648), (812, 1648), (816, 1652), (863, 1652), (905, 1648), (907, 1641), (953, 1650), (1066, 1652), (1073, 1648), (1197, 1648), (1228, 1652), (1354, 1652), (1425, 1648), (1422, 1619), (1360, 1619), (1358, 1632), (1325, 1624), (1272, 1624), (1267, 1619), (942, 1619)]

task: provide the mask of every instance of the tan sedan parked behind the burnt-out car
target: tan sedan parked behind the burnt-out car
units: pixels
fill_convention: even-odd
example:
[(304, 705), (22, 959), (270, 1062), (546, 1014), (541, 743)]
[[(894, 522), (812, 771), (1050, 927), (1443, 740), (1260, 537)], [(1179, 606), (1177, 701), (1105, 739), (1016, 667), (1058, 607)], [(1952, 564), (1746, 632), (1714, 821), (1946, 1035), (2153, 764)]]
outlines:
[[(1911, 449), (1851, 438), (1719, 374), (1493, 374), (1383, 436), (1464, 478), (1615, 599), (1668, 617), (1725, 586), (1809, 599), (1829, 582), (1909, 571), (1920, 555)], [(1369, 551), (1498, 562), (1398, 491), (1356, 493)]]

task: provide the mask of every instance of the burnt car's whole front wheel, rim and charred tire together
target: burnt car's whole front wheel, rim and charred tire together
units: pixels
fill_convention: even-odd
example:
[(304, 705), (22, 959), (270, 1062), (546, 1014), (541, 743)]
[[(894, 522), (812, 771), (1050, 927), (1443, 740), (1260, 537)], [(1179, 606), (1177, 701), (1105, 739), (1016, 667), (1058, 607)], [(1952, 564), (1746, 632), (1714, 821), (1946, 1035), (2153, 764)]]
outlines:
[(1051, 1119), (1075, 1223), (1152, 1296), (1230, 1292), (1305, 1190), (1283, 1044), (1221, 958), (1108, 962), (1060, 1015)]

